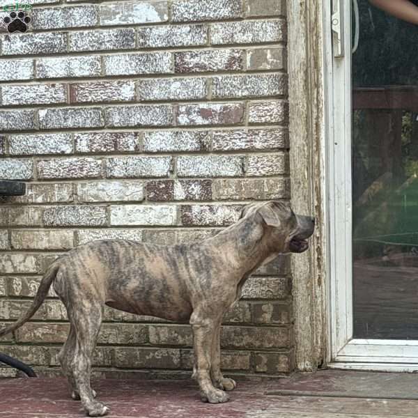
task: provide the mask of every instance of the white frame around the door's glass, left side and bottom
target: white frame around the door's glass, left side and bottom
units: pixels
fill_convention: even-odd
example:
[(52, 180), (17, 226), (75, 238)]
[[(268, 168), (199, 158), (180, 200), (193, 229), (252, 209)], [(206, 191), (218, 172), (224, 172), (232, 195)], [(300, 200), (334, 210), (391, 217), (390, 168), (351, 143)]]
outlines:
[[(334, 0), (336, 3), (339, 0)], [(331, 3), (331, 2), (330, 2)], [(325, 42), (325, 75), (330, 86), (325, 97), (328, 121), (329, 202), (328, 274), (330, 278), (329, 366), (380, 371), (417, 371), (418, 341), (353, 339), (352, 198), (351, 198), (351, 36), (350, 3), (341, 1), (345, 19), (343, 58), (334, 58)], [(328, 9), (328, 10), (327, 10)], [(324, 20), (330, 22), (330, 4)], [(331, 25), (324, 22), (325, 37)]]

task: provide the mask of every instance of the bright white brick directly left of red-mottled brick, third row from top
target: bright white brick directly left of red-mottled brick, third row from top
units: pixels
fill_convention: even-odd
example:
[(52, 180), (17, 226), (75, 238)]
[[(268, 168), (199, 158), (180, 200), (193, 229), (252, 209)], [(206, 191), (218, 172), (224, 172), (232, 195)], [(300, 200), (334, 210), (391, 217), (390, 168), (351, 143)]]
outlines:
[(104, 56), (105, 75), (161, 74), (164, 72), (173, 72), (169, 52)]

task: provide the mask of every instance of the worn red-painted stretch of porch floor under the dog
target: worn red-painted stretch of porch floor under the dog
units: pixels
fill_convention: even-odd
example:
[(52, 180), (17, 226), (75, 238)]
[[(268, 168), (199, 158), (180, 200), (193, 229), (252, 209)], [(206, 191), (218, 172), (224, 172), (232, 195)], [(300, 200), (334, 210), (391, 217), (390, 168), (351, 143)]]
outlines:
[[(242, 417), (245, 411), (263, 409), (265, 384), (240, 382), (231, 401), (210, 405), (199, 400), (191, 380), (93, 380), (98, 399), (111, 408), (114, 418)], [(63, 378), (0, 379), (0, 417), (73, 418), (84, 412), (79, 401), (69, 397)]]

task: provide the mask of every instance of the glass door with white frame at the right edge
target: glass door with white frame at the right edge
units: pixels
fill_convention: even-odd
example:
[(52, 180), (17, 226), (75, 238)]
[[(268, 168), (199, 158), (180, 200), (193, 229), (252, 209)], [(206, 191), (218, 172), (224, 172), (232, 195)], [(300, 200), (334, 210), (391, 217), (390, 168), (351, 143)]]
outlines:
[(415, 371), (418, 25), (389, 3), (332, 5), (331, 360)]

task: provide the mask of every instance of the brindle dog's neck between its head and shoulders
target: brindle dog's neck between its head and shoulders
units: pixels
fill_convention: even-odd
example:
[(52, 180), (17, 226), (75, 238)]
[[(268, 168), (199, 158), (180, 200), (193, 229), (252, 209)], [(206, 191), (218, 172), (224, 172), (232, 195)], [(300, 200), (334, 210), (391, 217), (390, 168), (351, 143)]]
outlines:
[(220, 251), (225, 251), (240, 275), (251, 274), (277, 253), (265, 242), (263, 226), (254, 217), (241, 219), (210, 238)]

